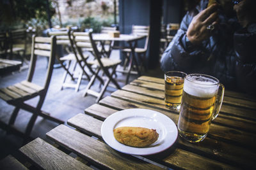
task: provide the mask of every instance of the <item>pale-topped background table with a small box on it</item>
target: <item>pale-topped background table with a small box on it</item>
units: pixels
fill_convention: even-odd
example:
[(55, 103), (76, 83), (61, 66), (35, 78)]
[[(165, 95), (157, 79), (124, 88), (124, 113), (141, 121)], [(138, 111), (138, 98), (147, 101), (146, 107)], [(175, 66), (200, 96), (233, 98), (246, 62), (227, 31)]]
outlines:
[[(138, 36), (135, 34), (120, 34), (119, 37), (111, 37), (109, 36), (109, 34), (93, 34), (93, 40), (95, 41), (100, 41), (100, 45), (102, 46), (102, 51), (106, 52), (106, 50), (104, 49), (104, 42), (105, 41), (124, 41), (128, 44), (128, 46), (115, 46), (115, 48), (130, 48), (131, 49), (131, 54), (130, 54), (130, 60), (129, 60), (129, 66), (128, 66), (128, 70), (127, 71), (123, 71), (124, 73), (127, 73), (127, 77), (125, 80), (125, 84), (128, 83), (129, 81), (129, 76), (131, 74), (131, 69), (132, 69), (132, 64), (134, 62), (135, 67), (136, 67), (136, 71), (138, 72), (138, 75), (140, 76), (140, 69), (138, 66), (138, 61), (136, 60), (135, 57), (135, 48), (138, 44), (138, 40), (145, 38), (146, 36)], [(111, 51), (111, 48), (113, 48), (113, 46), (110, 46), (109, 51)], [(107, 54), (108, 56), (110, 55), (110, 53)]]

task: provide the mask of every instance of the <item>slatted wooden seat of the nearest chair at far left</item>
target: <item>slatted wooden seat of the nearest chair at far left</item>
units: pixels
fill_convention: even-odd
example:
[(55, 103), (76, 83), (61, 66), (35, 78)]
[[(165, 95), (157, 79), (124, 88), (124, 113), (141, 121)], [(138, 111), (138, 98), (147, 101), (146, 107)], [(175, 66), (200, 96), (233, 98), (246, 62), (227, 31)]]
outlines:
[(0, 89), (0, 97), (6, 102), (18, 101), (19, 99), (24, 101), (37, 96), (42, 90), (44, 90), (43, 87), (24, 80)]

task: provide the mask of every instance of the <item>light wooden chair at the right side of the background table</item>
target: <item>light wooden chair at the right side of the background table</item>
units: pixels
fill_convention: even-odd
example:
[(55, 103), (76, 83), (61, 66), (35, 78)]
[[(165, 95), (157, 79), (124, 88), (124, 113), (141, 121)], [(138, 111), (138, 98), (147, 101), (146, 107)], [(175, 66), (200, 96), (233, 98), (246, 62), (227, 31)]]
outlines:
[[(145, 44), (143, 48), (135, 48), (135, 53), (138, 54), (138, 59), (140, 60), (141, 64), (147, 70), (147, 60), (146, 60), (146, 53), (148, 49), (148, 39), (149, 39), (150, 27), (145, 25), (132, 25), (132, 34), (136, 34), (139, 36), (146, 36)], [(125, 54), (125, 62), (124, 62), (124, 69), (129, 62), (129, 54), (131, 53), (130, 48), (124, 48), (122, 52)]]

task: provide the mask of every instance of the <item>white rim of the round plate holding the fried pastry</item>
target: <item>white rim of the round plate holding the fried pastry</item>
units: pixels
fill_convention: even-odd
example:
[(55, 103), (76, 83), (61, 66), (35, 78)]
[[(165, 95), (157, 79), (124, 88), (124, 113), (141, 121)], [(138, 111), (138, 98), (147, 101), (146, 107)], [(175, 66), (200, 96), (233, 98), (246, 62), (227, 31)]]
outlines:
[[(133, 111), (133, 113), (132, 113)], [(144, 111), (144, 115), (145, 115), (145, 111), (149, 111), (151, 113), (156, 113), (157, 116), (159, 117), (162, 117), (162, 118), (166, 118), (166, 120), (164, 120), (164, 122), (169, 122), (170, 124), (167, 125), (167, 127), (175, 127), (174, 129), (172, 129), (172, 132), (168, 131), (168, 133), (172, 133), (172, 136), (168, 136), (168, 138), (170, 138), (169, 140), (171, 140), (170, 142), (168, 142), (169, 144), (166, 143), (166, 140), (164, 141), (163, 139), (163, 144), (161, 144), (162, 146), (164, 146), (164, 148), (159, 148), (159, 151), (154, 151), (156, 150), (156, 147), (145, 147), (145, 148), (136, 148), (136, 147), (132, 147), (132, 146), (127, 146), (127, 145), (124, 145), (122, 143), (119, 143), (118, 141), (116, 141), (115, 137), (113, 137), (115, 139), (115, 141), (117, 143), (119, 143), (121, 146), (124, 146), (125, 148), (130, 148), (132, 150), (132, 152), (125, 152), (125, 151), (122, 151), (120, 150), (120, 148), (116, 147), (116, 146), (113, 146), (111, 145), (111, 142), (109, 142), (109, 139), (106, 137), (107, 134), (105, 134), (104, 131), (106, 131), (106, 127), (108, 127), (108, 122), (109, 121), (112, 121), (111, 118), (119, 118), (118, 120), (114, 121), (114, 123), (112, 123), (112, 126), (113, 128), (115, 127), (115, 125), (117, 124), (118, 121), (120, 121), (120, 118), (127, 118), (129, 116), (131, 116), (132, 114), (134, 114), (134, 111), (138, 111), (136, 112), (136, 114), (143, 114), (143, 111)], [(122, 112), (128, 112), (128, 113), (125, 113), (123, 115), (118, 115)], [(122, 120), (122, 119), (121, 119)], [(164, 125), (166, 127), (166, 125)], [(166, 128), (167, 129), (167, 128)], [(168, 130), (168, 129), (167, 129)], [(113, 131), (113, 130), (112, 130)], [(126, 110), (121, 110), (121, 111), (116, 111), (115, 113), (109, 115), (109, 117), (107, 117), (104, 122), (102, 123), (101, 125), (101, 128), (100, 128), (100, 132), (101, 132), (101, 135), (102, 135), (102, 138), (103, 140), (105, 141), (105, 143), (110, 146), (111, 148), (113, 148), (114, 150), (118, 151), (118, 152), (121, 152), (121, 153), (126, 153), (126, 154), (130, 154), (130, 155), (152, 155), (152, 154), (156, 154), (156, 153), (159, 153), (159, 152), (163, 152), (164, 150), (167, 150), (168, 148), (170, 148), (174, 143), (175, 141), (177, 140), (177, 137), (178, 137), (178, 129), (177, 129), (177, 125), (173, 122), (173, 120), (169, 117), (167, 117), (166, 115), (164, 115), (163, 113), (159, 112), (159, 111), (155, 111), (155, 110), (149, 110), (149, 109), (142, 109), (142, 108), (131, 108), (131, 109), (126, 109)], [(109, 134), (108, 134), (109, 135)], [(114, 136), (114, 135), (113, 135)], [(167, 135), (166, 135), (167, 136)], [(166, 139), (168, 139), (166, 138)], [(112, 139), (113, 140), (113, 139)], [(118, 145), (119, 145), (118, 144)], [(159, 145), (159, 146), (161, 146)], [(138, 152), (133, 152), (133, 150), (138, 150)], [(150, 152), (151, 150), (151, 152)], [(142, 151), (142, 152), (141, 152)], [(143, 151), (145, 151), (145, 153), (143, 153)]]

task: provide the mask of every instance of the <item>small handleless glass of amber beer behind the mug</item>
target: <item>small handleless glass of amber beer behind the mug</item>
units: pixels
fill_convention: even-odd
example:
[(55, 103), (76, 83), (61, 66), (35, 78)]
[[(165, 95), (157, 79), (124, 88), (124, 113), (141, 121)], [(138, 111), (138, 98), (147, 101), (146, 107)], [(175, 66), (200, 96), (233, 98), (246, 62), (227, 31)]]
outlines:
[(185, 76), (186, 73), (180, 71), (168, 71), (164, 74), (164, 101), (173, 110), (180, 109)]

